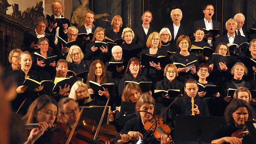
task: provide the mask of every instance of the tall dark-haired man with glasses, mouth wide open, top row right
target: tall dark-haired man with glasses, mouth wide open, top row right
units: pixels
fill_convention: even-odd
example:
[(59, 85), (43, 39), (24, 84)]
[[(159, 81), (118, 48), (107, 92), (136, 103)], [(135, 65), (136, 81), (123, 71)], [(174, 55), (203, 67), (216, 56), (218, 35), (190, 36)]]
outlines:
[[(194, 30), (197, 27), (202, 27), (202, 28), (205, 28), (207, 30), (219, 29), (220, 31), (219, 31), (219, 35), (218, 36), (221, 36), (221, 32), (222, 32), (221, 23), (217, 22), (215, 20), (212, 20), (212, 16), (214, 14), (214, 7), (213, 7), (213, 5), (212, 4), (207, 4), (204, 7), (203, 13), (204, 13), (204, 19), (198, 20), (198, 21), (194, 22), (194, 27), (193, 27)], [(204, 36), (205, 36), (204, 38), (207, 38), (207, 34), (205, 34)], [(207, 39), (207, 42), (210, 44), (210, 46), (212, 46), (212, 41), (214, 41), (214, 38), (208, 38)]]

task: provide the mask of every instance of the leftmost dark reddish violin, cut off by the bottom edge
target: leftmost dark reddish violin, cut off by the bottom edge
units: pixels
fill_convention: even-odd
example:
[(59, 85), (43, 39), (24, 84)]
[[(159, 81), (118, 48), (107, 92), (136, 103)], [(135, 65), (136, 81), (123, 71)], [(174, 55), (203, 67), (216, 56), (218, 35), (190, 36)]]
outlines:
[[(61, 122), (56, 122), (53, 129), (51, 144), (65, 144), (71, 132), (68, 126)], [(101, 142), (93, 140), (92, 135), (87, 131), (76, 130), (73, 135), (70, 140), (70, 143), (73, 144), (102, 144)]]

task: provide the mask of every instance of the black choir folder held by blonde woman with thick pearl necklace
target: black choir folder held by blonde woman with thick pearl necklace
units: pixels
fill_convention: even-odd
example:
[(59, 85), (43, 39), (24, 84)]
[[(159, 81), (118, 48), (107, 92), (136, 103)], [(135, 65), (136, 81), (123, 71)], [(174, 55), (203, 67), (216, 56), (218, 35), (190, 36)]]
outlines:
[(165, 67), (168, 63), (170, 63), (170, 60), (167, 56), (158, 56), (158, 57), (154, 57), (148, 54), (141, 54), (141, 65), (147, 66), (147, 67), (151, 67), (149, 62), (154, 62), (155, 64), (160, 63), (161, 67)]

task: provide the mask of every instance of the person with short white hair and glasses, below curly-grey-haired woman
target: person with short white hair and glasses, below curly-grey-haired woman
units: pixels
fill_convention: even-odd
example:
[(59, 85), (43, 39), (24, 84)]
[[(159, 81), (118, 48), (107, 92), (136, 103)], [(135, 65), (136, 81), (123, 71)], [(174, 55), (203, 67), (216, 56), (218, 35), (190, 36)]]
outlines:
[[(111, 51), (112, 51), (112, 58), (110, 62), (124, 62), (124, 59), (122, 57), (123, 52), (120, 46), (114, 46)], [(106, 63), (107, 69), (108, 69), (108, 66), (109, 66), (109, 62)], [(119, 81), (121, 78), (124, 77), (124, 64), (120, 67), (116, 66), (116, 69), (110, 72), (111, 72), (112, 78)]]

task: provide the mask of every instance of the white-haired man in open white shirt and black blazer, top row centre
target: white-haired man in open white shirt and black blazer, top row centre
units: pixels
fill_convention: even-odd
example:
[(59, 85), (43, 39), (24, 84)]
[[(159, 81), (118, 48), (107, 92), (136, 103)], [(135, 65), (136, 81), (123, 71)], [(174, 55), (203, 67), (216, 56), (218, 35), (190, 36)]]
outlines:
[(176, 42), (178, 37), (181, 35), (189, 36), (190, 30), (188, 27), (185, 27), (180, 23), (182, 19), (182, 11), (180, 9), (173, 9), (171, 11), (171, 18), (173, 23), (171, 25), (167, 25), (166, 27), (169, 28), (172, 34), (171, 47), (173, 47), (174, 49), (177, 49)]

